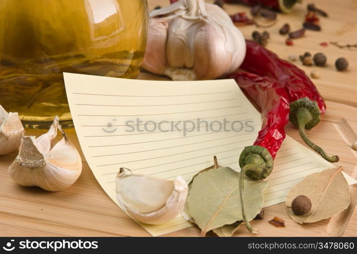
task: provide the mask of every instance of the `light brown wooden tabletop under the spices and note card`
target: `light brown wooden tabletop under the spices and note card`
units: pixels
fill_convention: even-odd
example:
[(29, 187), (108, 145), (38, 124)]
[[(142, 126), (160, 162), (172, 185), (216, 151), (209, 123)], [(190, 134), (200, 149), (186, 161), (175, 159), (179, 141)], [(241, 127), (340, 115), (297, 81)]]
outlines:
[[(149, 9), (166, 6), (169, 0), (148, 0)], [(207, 1), (213, 2), (213, 1)], [(328, 12), (329, 18), (321, 18), (322, 31), (307, 31), (306, 36), (294, 40), (294, 46), (285, 45), (285, 37), (279, 35), (282, 24), (288, 22), (291, 28), (298, 29), (306, 14), (307, 3), (315, 3), (317, 7)], [(249, 8), (241, 5), (225, 5), (225, 10), (248, 12)], [(357, 153), (352, 151), (342, 140), (334, 128), (333, 122), (345, 118), (357, 132), (357, 49), (340, 49), (333, 45), (322, 47), (321, 42), (338, 41), (342, 44), (357, 43), (357, 27), (355, 13), (356, 0), (311, 0), (296, 5), (289, 15), (279, 14), (278, 23), (267, 28), (271, 39), (267, 48), (287, 59), (290, 54), (312, 54), (323, 52), (327, 56), (327, 67), (305, 67), (296, 64), (307, 73), (316, 69), (321, 78), (315, 79), (327, 103), (327, 111), (323, 121), (309, 132), (312, 140), (325, 148), (328, 153), (339, 154), (338, 165), (345, 172), (351, 173), (356, 167)], [(245, 38), (251, 38), (254, 26), (239, 27)], [(346, 57), (349, 61), (347, 72), (337, 72), (334, 61), (338, 57)], [(142, 74), (143, 79), (165, 79), (149, 74)], [(44, 131), (26, 130), (27, 135), (39, 136)], [(74, 130), (66, 130), (69, 138), (81, 153)], [(301, 142), (297, 131), (291, 124), (287, 133)], [(82, 158), (84, 158), (83, 154)], [(130, 219), (107, 197), (104, 190), (94, 178), (88, 164), (83, 161), (83, 173), (71, 187), (57, 193), (45, 192), (37, 187), (21, 187), (15, 184), (7, 173), (7, 168), (16, 157), (16, 153), (0, 157), (0, 235), (1, 236), (149, 236), (149, 234)], [(84, 159), (83, 159), (84, 160)], [(286, 222), (285, 228), (275, 228), (268, 224), (273, 216), (279, 216)], [(258, 236), (318, 236), (324, 235), (328, 219), (310, 225), (298, 225), (292, 221), (285, 211), (285, 204), (265, 208), (265, 218), (254, 221), (259, 229)], [(344, 236), (357, 236), (357, 211), (355, 209)], [(168, 236), (198, 236), (196, 227), (168, 234)], [(236, 236), (251, 236), (244, 227)]]

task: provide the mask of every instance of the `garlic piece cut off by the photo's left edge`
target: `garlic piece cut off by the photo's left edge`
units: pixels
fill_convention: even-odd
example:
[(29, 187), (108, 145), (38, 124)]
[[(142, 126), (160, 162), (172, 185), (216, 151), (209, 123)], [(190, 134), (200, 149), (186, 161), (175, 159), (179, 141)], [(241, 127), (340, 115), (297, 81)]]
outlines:
[(0, 155), (18, 149), (24, 132), (18, 114), (6, 112), (0, 105)]

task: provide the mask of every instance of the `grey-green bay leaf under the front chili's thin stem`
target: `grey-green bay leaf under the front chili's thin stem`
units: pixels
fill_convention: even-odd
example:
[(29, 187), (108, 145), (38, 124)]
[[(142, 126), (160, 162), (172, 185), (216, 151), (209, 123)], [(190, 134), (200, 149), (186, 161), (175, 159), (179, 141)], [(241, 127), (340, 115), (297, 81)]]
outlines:
[[(266, 181), (246, 178), (246, 217), (253, 220), (263, 206), (262, 191)], [(201, 236), (210, 230), (243, 220), (239, 198), (239, 173), (224, 167), (200, 173), (191, 184), (187, 197), (189, 215), (201, 229)]]

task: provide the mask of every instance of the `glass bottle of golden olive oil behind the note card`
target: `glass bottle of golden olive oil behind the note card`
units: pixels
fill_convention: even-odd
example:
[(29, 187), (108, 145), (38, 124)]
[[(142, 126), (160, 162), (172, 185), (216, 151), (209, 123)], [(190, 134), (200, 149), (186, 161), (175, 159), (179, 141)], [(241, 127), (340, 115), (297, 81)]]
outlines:
[(146, 0), (1, 0), (0, 104), (24, 125), (71, 126), (63, 72), (136, 78)]

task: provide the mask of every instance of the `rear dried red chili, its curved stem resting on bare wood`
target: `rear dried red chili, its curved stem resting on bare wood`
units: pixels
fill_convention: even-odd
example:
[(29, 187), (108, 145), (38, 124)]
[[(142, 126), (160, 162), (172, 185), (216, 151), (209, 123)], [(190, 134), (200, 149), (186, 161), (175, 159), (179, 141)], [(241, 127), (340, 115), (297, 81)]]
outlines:
[(298, 127), (304, 142), (329, 162), (338, 162), (339, 157), (329, 156), (309, 140), (305, 130), (311, 130), (320, 122), (326, 105), (316, 86), (303, 70), (280, 59), (261, 45), (246, 40), (246, 56), (241, 69), (260, 76), (268, 76), (285, 86), (290, 103), (290, 121)]

